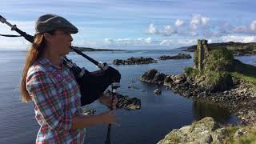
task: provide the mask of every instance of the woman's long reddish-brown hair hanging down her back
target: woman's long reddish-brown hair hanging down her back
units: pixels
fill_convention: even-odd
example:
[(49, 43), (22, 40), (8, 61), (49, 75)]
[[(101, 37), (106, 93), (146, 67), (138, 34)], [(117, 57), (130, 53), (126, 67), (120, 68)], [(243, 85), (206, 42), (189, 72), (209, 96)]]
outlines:
[[(55, 30), (47, 33), (53, 35), (54, 31)], [(42, 57), (42, 53), (43, 53), (43, 50), (45, 50), (45, 48), (46, 48), (46, 39), (44, 38), (44, 35), (36, 34), (34, 37), (34, 42), (32, 46), (30, 46), (30, 49), (26, 54), (26, 62), (22, 72), (22, 81), (21, 81), (21, 87), (20, 87), (22, 91), (22, 102), (30, 102), (31, 100), (30, 94), (28, 94), (28, 91), (26, 90), (26, 74), (30, 69), (30, 66), (32, 66), (33, 63), (36, 60), (38, 60), (38, 58)]]

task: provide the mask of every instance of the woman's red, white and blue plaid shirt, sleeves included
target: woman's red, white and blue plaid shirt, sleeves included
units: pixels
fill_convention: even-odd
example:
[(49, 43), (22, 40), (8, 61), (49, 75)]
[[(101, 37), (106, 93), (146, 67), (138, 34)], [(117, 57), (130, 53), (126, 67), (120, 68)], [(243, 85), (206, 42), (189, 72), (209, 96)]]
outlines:
[(80, 113), (81, 94), (66, 66), (54, 66), (39, 58), (27, 73), (26, 90), (41, 126), (36, 143), (83, 143), (85, 129), (70, 130), (72, 116)]

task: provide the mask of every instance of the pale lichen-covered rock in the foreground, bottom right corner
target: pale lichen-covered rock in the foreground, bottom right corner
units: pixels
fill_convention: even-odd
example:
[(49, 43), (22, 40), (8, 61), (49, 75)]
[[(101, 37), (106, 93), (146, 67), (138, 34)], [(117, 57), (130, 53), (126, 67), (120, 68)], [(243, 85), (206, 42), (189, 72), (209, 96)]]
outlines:
[(255, 142), (255, 126), (221, 126), (213, 118), (202, 118), (190, 126), (174, 129), (158, 144), (222, 144)]

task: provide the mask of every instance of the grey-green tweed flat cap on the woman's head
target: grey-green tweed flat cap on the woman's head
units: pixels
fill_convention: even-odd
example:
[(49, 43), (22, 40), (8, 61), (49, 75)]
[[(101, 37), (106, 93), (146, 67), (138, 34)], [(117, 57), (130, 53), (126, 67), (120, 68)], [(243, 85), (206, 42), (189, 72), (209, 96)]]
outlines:
[(36, 33), (45, 33), (52, 30), (67, 30), (70, 31), (71, 34), (78, 33), (78, 28), (65, 18), (55, 14), (45, 14), (40, 16), (35, 24)]

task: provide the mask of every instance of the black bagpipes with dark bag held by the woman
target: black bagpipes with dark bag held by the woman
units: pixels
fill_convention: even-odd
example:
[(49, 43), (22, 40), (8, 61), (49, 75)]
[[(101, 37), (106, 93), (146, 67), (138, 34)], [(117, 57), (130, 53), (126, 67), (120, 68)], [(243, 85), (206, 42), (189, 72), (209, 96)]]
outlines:
[[(11, 25), (6, 21), (6, 18), (3, 18), (0, 15), (0, 22), (6, 23), (6, 25), (11, 27), (11, 30), (15, 30), (18, 34), (21, 35), (8, 35), (8, 34), (0, 34), (1, 36), (6, 37), (24, 37), (27, 41), (33, 43), (34, 37), (30, 34), (26, 34), (22, 30), (19, 30), (16, 25)], [(112, 92), (115, 93), (117, 88), (120, 86), (121, 74), (118, 70), (114, 69), (111, 66), (108, 66), (106, 63), (97, 62), (93, 58), (90, 58), (86, 54), (83, 54), (82, 51), (74, 48), (74, 46), (70, 47), (74, 52), (82, 57), (88, 59), (90, 62), (93, 62), (94, 65), (98, 66), (100, 70), (96, 70), (90, 72), (85, 68), (80, 68), (75, 63), (73, 63), (70, 59), (63, 57), (63, 63), (66, 64), (74, 74), (78, 85), (80, 86), (81, 91), (81, 106), (86, 104), (90, 104), (98, 99), (103, 92), (108, 88), (108, 86), (112, 86)]]

